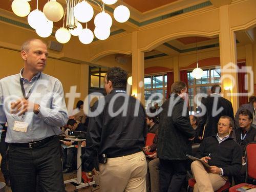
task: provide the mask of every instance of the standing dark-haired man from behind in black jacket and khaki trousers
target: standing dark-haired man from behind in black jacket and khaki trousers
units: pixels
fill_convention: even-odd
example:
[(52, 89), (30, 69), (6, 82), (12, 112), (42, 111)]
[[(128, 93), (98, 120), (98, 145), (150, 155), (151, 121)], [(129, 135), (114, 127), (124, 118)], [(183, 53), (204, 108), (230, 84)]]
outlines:
[(99, 114), (89, 120), (83, 163), (89, 172), (99, 156), (102, 192), (146, 191), (147, 164), (142, 152), (147, 133), (145, 111), (136, 98), (126, 94), (126, 83), (124, 70), (110, 68), (105, 77), (108, 95), (93, 105), (92, 111)]

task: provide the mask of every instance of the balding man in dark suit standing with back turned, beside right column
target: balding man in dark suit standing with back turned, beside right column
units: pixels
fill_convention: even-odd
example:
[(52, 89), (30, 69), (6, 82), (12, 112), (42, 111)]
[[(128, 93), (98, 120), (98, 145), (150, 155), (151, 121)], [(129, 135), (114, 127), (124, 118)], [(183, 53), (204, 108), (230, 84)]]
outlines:
[[(201, 109), (206, 112), (201, 116), (201, 121), (198, 123), (199, 138), (202, 136), (209, 137), (218, 133), (217, 123), (221, 116), (229, 116), (234, 118), (232, 103), (220, 95), (221, 87), (216, 84), (211, 87), (211, 94), (202, 97)], [(202, 113), (203, 113), (202, 112)], [(205, 126), (205, 129), (204, 129)], [(204, 132), (204, 134), (203, 134)]]

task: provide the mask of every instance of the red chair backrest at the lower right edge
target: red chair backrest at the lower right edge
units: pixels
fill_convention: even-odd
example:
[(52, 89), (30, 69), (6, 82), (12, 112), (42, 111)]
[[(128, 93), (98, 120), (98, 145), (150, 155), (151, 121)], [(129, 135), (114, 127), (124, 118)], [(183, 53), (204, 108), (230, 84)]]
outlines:
[(256, 179), (256, 142), (251, 142), (245, 145), (245, 157), (246, 157), (246, 178), (245, 182), (248, 180), (248, 176)]

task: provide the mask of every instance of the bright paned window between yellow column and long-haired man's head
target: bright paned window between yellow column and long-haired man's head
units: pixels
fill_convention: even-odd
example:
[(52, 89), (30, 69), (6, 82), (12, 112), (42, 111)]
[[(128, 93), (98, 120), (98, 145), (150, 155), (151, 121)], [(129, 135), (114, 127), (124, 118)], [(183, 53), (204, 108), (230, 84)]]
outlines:
[(161, 106), (165, 100), (167, 88), (167, 75), (151, 75), (144, 77), (144, 95), (145, 95), (145, 105), (148, 103), (152, 105), (154, 102), (158, 102)]

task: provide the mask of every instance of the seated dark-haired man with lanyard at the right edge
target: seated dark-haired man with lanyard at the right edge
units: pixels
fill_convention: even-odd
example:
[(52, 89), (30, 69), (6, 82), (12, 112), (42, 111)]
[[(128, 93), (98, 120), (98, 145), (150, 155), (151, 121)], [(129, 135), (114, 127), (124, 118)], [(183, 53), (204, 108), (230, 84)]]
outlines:
[(234, 139), (241, 146), (243, 166), (240, 170), (240, 175), (234, 177), (236, 184), (245, 182), (246, 173), (246, 159), (245, 159), (245, 145), (256, 141), (256, 129), (252, 127), (252, 114), (249, 110), (241, 110), (239, 112), (239, 129), (234, 130)]

